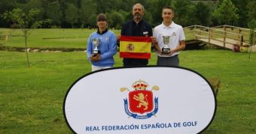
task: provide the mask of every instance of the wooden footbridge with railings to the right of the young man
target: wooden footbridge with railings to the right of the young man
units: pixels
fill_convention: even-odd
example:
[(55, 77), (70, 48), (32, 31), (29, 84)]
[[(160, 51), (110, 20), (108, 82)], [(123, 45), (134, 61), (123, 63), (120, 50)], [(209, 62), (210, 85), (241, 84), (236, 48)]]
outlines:
[[(239, 28), (230, 25), (220, 25), (212, 28), (202, 25), (191, 25), (184, 27), (186, 40), (188, 42), (209, 43), (215, 46), (221, 46), (227, 49), (233, 49), (233, 46), (248, 47), (250, 29)], [(254, 31), (254, 45), (251, 46), (251, 52), (256, 52)]]

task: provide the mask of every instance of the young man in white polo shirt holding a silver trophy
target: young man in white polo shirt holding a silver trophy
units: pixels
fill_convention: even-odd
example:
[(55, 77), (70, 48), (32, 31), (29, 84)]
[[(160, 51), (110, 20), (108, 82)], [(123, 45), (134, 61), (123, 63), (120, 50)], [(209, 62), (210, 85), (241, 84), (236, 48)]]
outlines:
[[(185, 48), (184, 31), (181, 25), (175, 24), (172, 19), (174, 11), (172, 7), (163, 7), (162, 10), (163, 23), (154, 28), (153, 36), (156, 37), (157, 43), (157, 65), (160, 66), (179, 66), (178, 54)], [(170, 36), (168, 46), (170, 50), (166, 53), (162, 52), (163, 36)]]

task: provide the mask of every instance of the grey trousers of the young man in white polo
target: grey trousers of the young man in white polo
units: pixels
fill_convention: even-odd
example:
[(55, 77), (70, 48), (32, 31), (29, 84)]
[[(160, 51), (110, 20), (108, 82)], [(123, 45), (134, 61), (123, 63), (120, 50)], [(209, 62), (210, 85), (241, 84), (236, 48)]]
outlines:
[(178, 55), (172, 57), (157, 56), (157, 66), (179, 66)]

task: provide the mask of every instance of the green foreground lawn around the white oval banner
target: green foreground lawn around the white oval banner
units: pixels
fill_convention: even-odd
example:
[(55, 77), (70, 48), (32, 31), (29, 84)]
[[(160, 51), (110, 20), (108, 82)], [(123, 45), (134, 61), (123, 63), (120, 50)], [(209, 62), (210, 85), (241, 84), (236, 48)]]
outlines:
[[(256, 53), (194, 50), (180, 54), (182, 67), (221, 80), (214, 121), (204, 133), (256, 133)], [(72, 133), (62, 103), (69, 86), (90, 72), (84, 52), (0, 51), (0, 133)], [(115, 56), (116, 67), (122, 61)], [(152, 53), (150, 64), (156, 63)]]

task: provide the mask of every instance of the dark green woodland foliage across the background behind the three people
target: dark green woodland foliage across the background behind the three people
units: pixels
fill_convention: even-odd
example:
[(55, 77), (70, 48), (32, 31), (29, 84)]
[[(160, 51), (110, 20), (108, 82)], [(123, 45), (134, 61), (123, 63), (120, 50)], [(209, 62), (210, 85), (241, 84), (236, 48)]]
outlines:
[[(111, 28), (120, 28), (132, 19), (133, 4), (145, 6), (144, 19), (153, 26), (162, 22), (162, 7), (170, 5), (175, 9), (175, 22), (187, 25), (236, 25), (248, 27), (255, 20), (255, 1), (250, 0), (1, 0), (0, 17), (7, 11), (20, 8), (29, 11), (41, 10), (38, 18), (44, 21), (42, 28), (94, 28), (96, 15), (106, 13)], [(226, 18), (228, 16), (228, 18)], [(14, 22), (0, 19), (0, 27), (17, 26)]]

